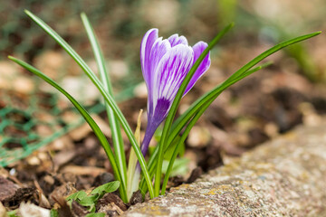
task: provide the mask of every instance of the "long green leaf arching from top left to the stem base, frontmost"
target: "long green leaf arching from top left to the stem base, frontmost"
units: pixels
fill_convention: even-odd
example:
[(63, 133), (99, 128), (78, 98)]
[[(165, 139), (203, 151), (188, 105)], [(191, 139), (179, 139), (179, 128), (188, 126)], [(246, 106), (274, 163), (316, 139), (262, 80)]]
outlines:
[[(154, 197), (154, 189), (153, 186), (151, 184), (151, 180), (149, 178), (149, 170), (147, 168), (146, 165), (146, 161), (144, 156), (142, 156), (141, 154), (141, 150), (137, 144), (136, 138), (133, 135), (133, 132), (126, 120), (126, 118), (123, 116), (121, 110), (119, 109), (117, 103), (114, 101), (114, 99), (111, 97), (111, 95), (109, 94), (108, 91), (106, 91), (100, 80), (95, 76), (95, 74), (91, 71), (91, 68), (86, 64), (85, 61), (82, 60), (82, 57), (75, 52), (72, 47), (65, 42), (62, 37), (58, 34), (55, 33), (55, 31), (53, 31), (53, 29), (45, 24), (43, 22), (43, 20), (41, 20), (39, 17), (37, 17), (36, 15), (34, 15), (33, 13), (25, 10), (24, 11), (36, 24), (38, 24), (43, 31), (45, 31), (45, 33), (48, 33), (51, 37), (53, 37), (53, 39), (59, 43), (59, 45), (62, 46), (62, 48), (64, 49), (64, 51), (66, 51), (74, 61), (77, 62), (77, 64), (82, 68), (82, 71), (84, 71), (86, 73), (86, 75), (91, 79), (91, 81), (94, 83), (94, 85), (97, 87), (98, 90), (100, 90), (101, 95), (104, 97), (104, 99), (106, 100), (106, 102), (110, 105), (110, 108), (113, 110), (114, 115), (116, 116), (116, 118), (119, 119), (121, 126), (123, 127), (127, 137), (129, 138), (129, 142), (132, 146), (132, 148), (135, 150), (135, 154), (139, 160), (139, 165), (141, 167), (141, 172), (145, 177), (146, 183), (148, 184), (149, 187), (149, 194), (150, 197), (153, 198)], [(121, 179), (120, 175), (120, 182), (123, 183), (123, 180)], [(125, 186), (125, 184), (121, 184), (123, 186)]]

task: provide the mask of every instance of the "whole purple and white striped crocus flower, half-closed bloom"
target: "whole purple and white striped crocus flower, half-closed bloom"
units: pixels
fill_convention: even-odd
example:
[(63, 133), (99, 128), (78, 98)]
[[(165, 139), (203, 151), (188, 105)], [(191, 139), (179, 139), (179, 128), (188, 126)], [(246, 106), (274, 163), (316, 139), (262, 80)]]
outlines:
[[(143, 77), (148, 89), (148, 126), (141, 145), (145, 156), (159, 124), (167, 118), (168, 110), (177, 95), (187, 72), (206, 49), (206, 42), (189, 46), (185, 36), (171, 35), (168, 39), (158, 38), (158, 29), (150, 29), (140, 46), (140, 61)], [(183, 96), (195, 85), (196, 81), (208, 70), (210, 53), (199, 65), (187, 85)]]

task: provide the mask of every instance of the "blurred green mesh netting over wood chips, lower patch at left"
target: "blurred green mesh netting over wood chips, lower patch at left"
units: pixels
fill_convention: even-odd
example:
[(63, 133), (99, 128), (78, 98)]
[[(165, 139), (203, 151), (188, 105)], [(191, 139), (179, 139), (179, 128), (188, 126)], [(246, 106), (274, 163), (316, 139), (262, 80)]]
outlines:
[[(121, 101), (132, 97), (135, 85), (129, 84), (129, 88), (120, 91), (116, 99)], [(66, 108), (61, 108), (60, 103), (59, 94), (35, 90), (26, 98), (12, 90), (1, 90), (0, 166), (31, 155), (34, 150), (85, 123), (68, 102)], [(99, 113), (104, 106), (99, 102), (86, 109)]]

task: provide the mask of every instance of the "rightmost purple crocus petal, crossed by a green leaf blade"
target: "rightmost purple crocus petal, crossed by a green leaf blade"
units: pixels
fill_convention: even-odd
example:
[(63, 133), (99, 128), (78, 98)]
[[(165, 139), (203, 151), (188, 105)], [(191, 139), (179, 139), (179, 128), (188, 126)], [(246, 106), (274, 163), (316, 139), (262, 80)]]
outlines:
[[(193, 46), (193, 50), (194, 50), (194, 64), (195, 61), (197, 61), (198, 57), (200, 56), (200, 54), (202, 52), (204, 52), (204, 50), (207, 47), (207, 43), (206, 42), (197, 42), (194, 46)], [(196, 81), (208, 70), (209, 66), (210, 66), (210, 52), (208, 52), (208, 54), (206, 55), (206, 57), (204, 58), (204, 60), (200, 63), (199, 67), (197, 68), (197, 71), (195, 71), (193, 77), (191, 78), (191, 80), (189, 81), (187, 88), (185, 90), (184, 96), (187, 94), (187, 92), (189, 90), (192, 89), (192, 87), (194, 87)]]

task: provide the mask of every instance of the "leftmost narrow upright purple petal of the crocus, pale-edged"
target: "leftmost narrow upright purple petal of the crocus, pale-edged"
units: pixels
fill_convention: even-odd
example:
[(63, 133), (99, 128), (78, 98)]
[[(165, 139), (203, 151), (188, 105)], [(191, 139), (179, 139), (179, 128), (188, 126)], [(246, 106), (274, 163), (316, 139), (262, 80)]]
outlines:
[(147, 84), (150, 81), (149, 55), (154, 42), (158, 39), (158, 29), (150, 29), (143, 37), (140, 45), (141, 71)]

